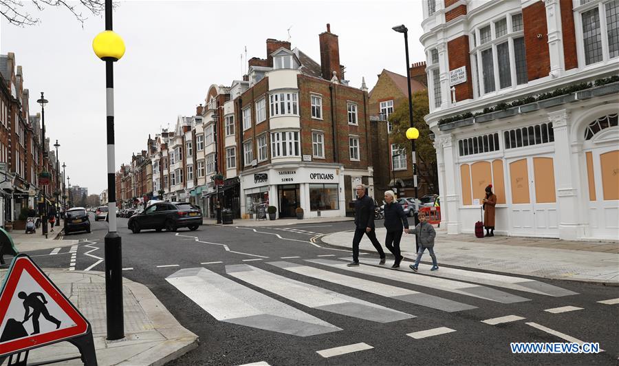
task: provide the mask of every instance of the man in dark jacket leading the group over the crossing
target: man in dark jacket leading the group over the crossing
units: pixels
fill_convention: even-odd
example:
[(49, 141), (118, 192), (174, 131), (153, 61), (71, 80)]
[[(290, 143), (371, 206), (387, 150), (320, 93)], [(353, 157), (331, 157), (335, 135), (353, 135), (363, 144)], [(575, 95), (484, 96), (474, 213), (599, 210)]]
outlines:
[(380, 263), (384, 264), (384, 250), (376, 239), (374, 228), (374, 200), (365, 195), (365, 186), (357, 186), (357, 200), (355, 201), (355, 237), (353, 239), (353, 261), (348, 266), (359, 265), (359, 243), (363, 234), (367, 235), (372, 245), (380, 254)]

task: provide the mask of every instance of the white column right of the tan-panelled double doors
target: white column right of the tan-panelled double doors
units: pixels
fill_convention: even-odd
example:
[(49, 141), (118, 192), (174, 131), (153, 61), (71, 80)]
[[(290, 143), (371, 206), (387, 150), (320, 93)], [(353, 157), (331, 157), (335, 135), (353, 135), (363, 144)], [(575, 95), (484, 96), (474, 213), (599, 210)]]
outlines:
[[(569, 114), (565, 109), (548, 114), (554, 130), (554, 182), (558, 213), (559, 238), (574, 240), (584, 234), (579, 217), (583, 216), (585, 207), (578, 204), (578, 162), (572, 159), (569, 143)], [(566, 169), (571, 167), (571, 169)], [(574, 171), (576, 169), (576, 171)]]

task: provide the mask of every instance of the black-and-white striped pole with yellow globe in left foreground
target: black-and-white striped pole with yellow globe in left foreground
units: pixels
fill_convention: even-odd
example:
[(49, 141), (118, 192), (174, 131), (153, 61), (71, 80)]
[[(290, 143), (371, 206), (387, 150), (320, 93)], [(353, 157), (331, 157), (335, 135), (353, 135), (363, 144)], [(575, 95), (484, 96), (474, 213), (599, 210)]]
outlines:
[(107, 194), (109, 228), (105, 235), (105, 305), (107, 339), (124, 338), (122, 314), (122, 244), (116, 232), (116, 179), (114, 171), (114, 74), (113, 63), (124, 54), (122, 38), (112, 31), (112, 0), (105, 0), (105, 31), (92, 41), (95, 54), (105, 61), (107, 109)]

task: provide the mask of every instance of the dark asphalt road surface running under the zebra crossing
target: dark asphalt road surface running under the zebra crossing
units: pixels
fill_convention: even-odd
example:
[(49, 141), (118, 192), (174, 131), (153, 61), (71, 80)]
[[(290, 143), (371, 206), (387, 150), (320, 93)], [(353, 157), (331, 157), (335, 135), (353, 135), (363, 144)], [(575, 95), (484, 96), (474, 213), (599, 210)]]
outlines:
[[(66, 237), (83, 239), (78, 246), (76, 270), (104, 270), (100, 260), (107, 224), (92, 220), (92, 229), (90, 234)], [(320, 241), (320, 235), (351, 229), (351, 223), (344, 222), (250, 229), (201, 226), (193, 232), (180, 229), (177, 233), (152, 230), (133, 234), (127, 229), (127, 219), (119, 219), (122, 267), (127, 268), (124, 276), (148, 286), (184, 327), (200, 337), (197, 349), (169, 365), (242, 365), (260, 361), (269, 365), (618, 365), (619, 304), (597, 301), (619, 298), (619, 288), (547, 279), (530, 282), (535, 283), (532, 288), (542, 288), (541, 292), (545, 285), (575, 292), (554, 297), (506, 288), (509, 281), (476, 286), (476, 277), (488, 279), (490, 275), (474, 272), (473, 277), (466, 277), (471, 273), (462, 272), (466, 278), (437, 279), (428, 272), (390, 270), (384, 268), (393, 263), (390, 255), (387, 265), (378, 268), (376, 253), (362, 255), (362, 259), (373, 261), (373, 266), (362, 265), (358, 270), (325, 265), (332, 263), (329, 260), (349, 258), (350, 253), (329, 248)], [(68, 247), (55, 255), (50, 252), (28, 254), (43, 268), (69, 267)], [(307, 261), (316, 259), (327, 262)], [(287, 264), (274, 266), (272, 262)], [(292, 270), (309, 272), (302, 275)], [(373, 275), (376, 271), (378, 275)], [(439, 270), (440, 275), (448, 271), (444, 267)], [(327, 274), (336, 280), (324, 281), (307, 273), (318, 273), (318, 277)], [(340, 281), (338, 275), (347, 277)], [(358, 279), (371, 281), (365, 282), (370, 288), (359, 290), (347, 283)], [(296, 290), (300, 285), (306, 288)], [(386, 288), (393, 297), (374, 293)], [(412, 295), (403, 298), (412, 302), (395, 298), (406, 293)], [(346, 301), (351, 299), (342, 300), (343, 295), (367, 303), (349, 305)], [(506, 300), (501, 301), (501, 297)], [(422, 298), (429, 300), (423, 305), (415, 303)], [(445, 311), (463, 304), (468, 305), (468, 310)], [(580, 309), (545, 311), (565, 306)], [(271, 315), (256, 315), (261, 311)], [(297, 318), (292, 319), (290, 314)], [(497, 325), (482, 323), (510, 315), (523, 319)], [(319, 334), (285, 334), (287, 324), (298, 326), (298, 316), (319, 319)], [(398, 316), (404, 319), (393, 320)], [(318, 329), (316, 322), (304, 324), (307, 326), (300, 332)], [(407, 335), (437, 328), (449, 332), (425, 338)], [(566, 336), (597, 342), (604, 352), (512, 354), (510, 349), (512, 342), (566, 342)], [(317, 353), (357, 343), (372, 348), (327, 358)]]

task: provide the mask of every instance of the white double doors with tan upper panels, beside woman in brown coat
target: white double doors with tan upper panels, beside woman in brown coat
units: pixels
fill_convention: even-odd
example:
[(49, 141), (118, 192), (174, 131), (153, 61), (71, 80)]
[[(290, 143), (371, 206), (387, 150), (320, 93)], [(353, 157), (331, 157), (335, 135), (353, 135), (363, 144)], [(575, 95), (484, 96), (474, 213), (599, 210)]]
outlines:
[(554, 161), (534, 156), (509, 162), (511, 235), (558, 237)]

